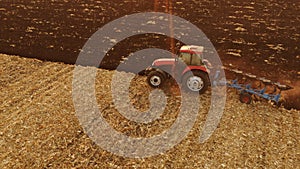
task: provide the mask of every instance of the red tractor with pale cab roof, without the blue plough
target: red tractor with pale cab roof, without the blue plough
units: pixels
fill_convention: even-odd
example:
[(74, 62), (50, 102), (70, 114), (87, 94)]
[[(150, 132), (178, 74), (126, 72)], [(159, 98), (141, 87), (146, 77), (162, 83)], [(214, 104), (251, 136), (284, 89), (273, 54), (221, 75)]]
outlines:
[(203, 47), (182, 46), (178, 58), (161, 58), (153, 61), (145, 74), (152, 87), (161, 87), (167, 78), (173, 77), (188, 91), (204, 93), (209, 86), (211, 64), (203, 59)]

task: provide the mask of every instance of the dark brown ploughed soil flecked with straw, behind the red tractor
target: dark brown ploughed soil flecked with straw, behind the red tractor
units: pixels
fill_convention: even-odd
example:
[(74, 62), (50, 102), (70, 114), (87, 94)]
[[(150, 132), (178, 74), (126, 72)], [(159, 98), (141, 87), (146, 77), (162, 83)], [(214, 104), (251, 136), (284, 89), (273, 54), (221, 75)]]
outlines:
[[(165, 12), (165, 1), (158, 2), (156, 11)], [(0, 52), (74, 63), (98, 28), (154, 8), (154, 1), (138, 0), (4, 1), (0, 4)], [(285, 83), (299, 77), (300, 1), (189, 0), (173, 2), (172, 9), (174, 15), (204, 31), (224, 64), (288, 80)], [(145, 35), (129, 38), (101, 66), (113, 69), (121, 56), (147, 47), (168, 49), (168, 43)]]

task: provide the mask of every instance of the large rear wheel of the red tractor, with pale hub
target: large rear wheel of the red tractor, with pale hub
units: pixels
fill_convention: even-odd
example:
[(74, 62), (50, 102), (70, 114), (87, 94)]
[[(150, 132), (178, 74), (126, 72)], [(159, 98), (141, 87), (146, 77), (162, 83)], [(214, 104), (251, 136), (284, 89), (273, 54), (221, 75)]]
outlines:
[(193, 71), (183, 76), (182, 83), (186, 90), (202, 94), (208, 88), (209, 78), (205, 72)]

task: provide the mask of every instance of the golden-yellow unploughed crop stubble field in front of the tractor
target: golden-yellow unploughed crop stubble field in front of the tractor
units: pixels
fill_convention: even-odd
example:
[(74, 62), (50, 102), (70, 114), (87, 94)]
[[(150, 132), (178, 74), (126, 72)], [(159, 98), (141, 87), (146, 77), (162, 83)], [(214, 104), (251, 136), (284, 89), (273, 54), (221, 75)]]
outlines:
[[(221, 122), (212, 137), (198, 138), (210, 105), (210, 91), (199, 96), (201, 106), (193, 129), (165, 154), (130, 159), (103, 150), (84, 133), (72, 101), (73, 65), (0, 55), (0, 168), (297, 168), (300, 112), (266, 102), (241, 104), (228, 90)], [(115, 109), (110, 83), (115, 71), (97, 70), (96, 95), (103, 116), (117, 131), (149, 137), (176, 119), (178, 87), (163, 89), (167, 107), (159, 120), (132, 123)], [(126, 73), (124, 73), (126, 77)], [(131, 103), (149, 108), (152, 89), (136, 76)], [(175, 94), (173, 96), (172, 94)]]

